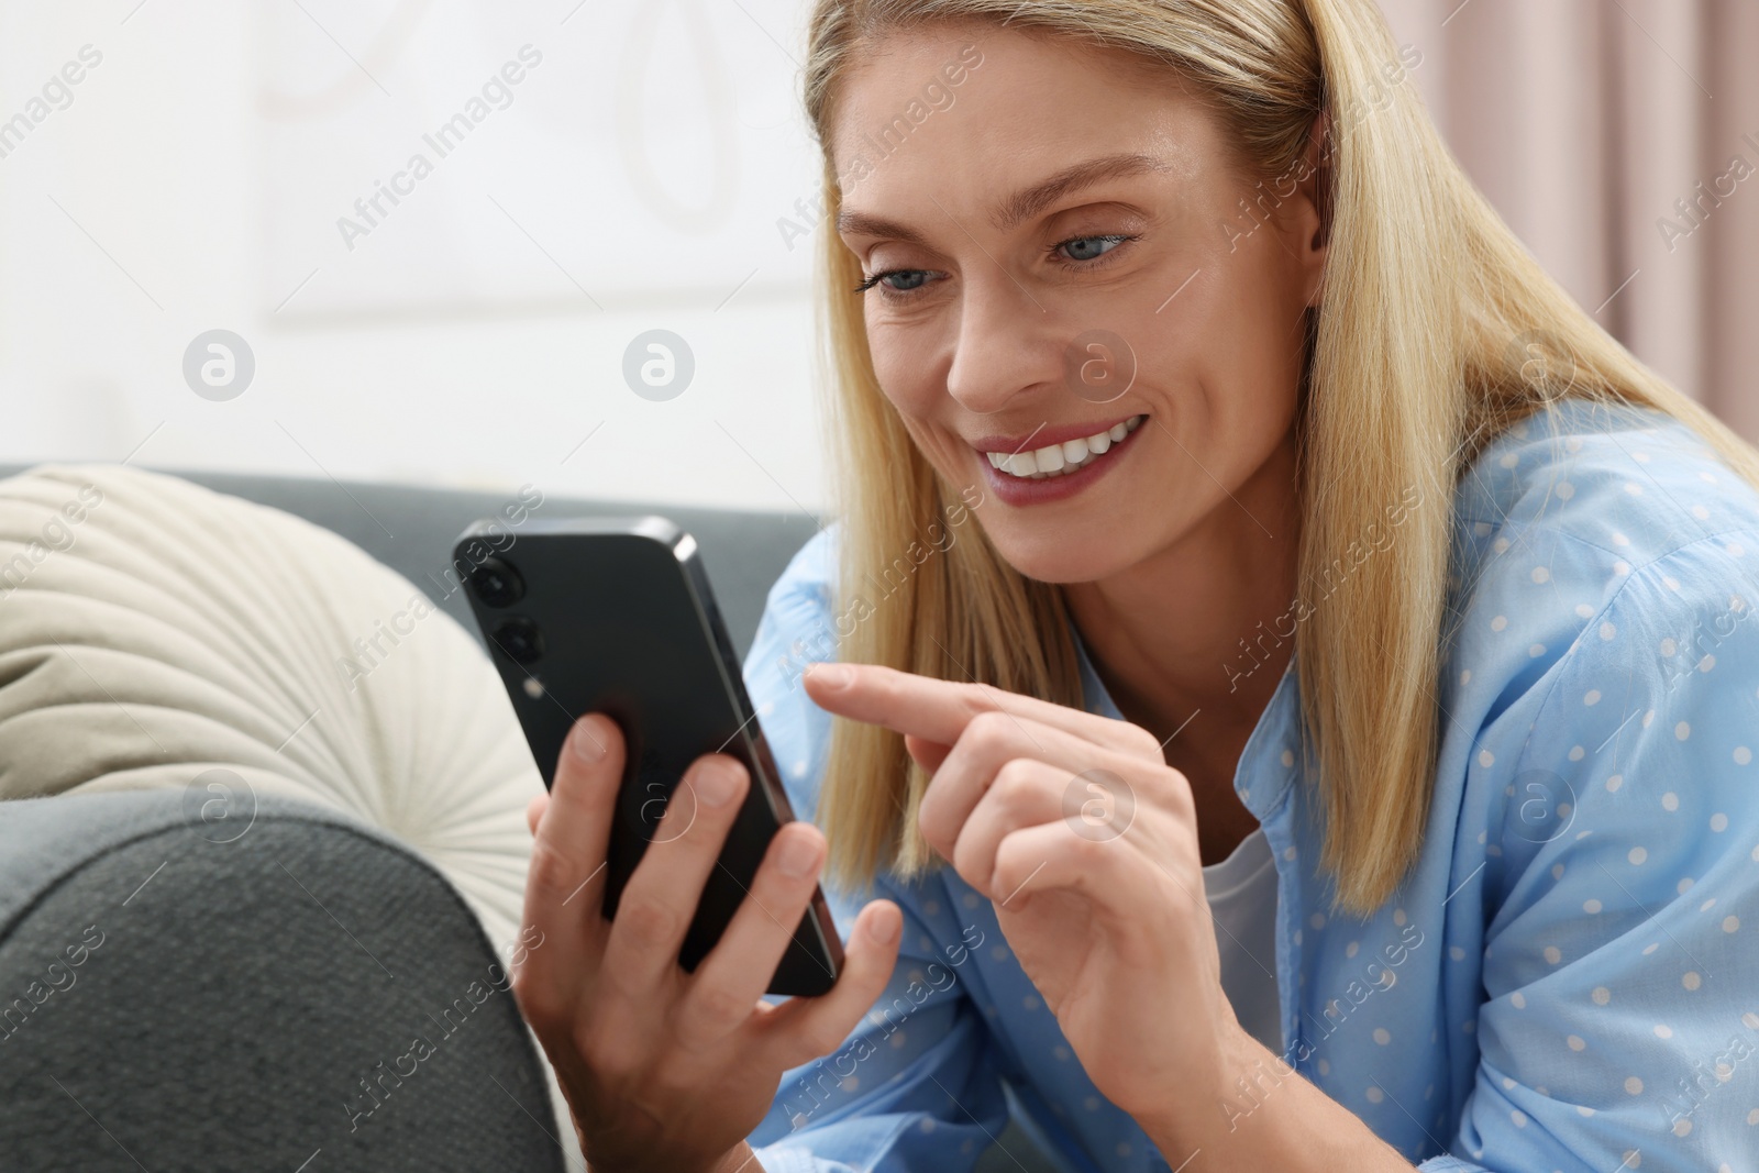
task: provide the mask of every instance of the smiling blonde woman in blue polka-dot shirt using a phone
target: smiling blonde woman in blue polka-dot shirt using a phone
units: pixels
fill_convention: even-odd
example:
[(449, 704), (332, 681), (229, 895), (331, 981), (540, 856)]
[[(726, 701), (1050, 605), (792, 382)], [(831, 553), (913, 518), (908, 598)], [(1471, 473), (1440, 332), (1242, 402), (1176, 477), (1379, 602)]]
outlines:
[[(1003, 1082), (1071, 1169), (1755, 1150), (1759, 457), (1420, 63), (1372, 0), (816, 5), (846, 496), (746, 663), (800, 821), (686, 974), (744, 770), (605, 923), (582, 719), (515, 988), (595, 1171), (967, 1169)], [(760, 999), (825, 858), (848, 973)]]

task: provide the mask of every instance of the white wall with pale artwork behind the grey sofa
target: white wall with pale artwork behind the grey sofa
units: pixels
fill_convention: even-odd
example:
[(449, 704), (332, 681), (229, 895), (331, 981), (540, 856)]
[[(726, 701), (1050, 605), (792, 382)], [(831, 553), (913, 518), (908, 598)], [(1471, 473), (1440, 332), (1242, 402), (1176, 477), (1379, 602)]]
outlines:
[[(823, 508), (821, 229), (776, 223), (814, 193), (804, 5), (135, 5), (0, 7), (0, 120), (40, 116), (0, 141), (0, 461)], [(183, 376), (215, 327), (257, 364), (229, 401)], [(623, 378), (654, 327), (697, 364), (663, 403)]]

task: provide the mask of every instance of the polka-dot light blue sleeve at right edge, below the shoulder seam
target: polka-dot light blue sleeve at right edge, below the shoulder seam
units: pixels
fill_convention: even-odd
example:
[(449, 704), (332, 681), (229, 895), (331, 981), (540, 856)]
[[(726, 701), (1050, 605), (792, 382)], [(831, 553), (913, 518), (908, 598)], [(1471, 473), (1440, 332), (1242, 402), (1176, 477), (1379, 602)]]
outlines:
[(1425, 1173), (1726, 1171), (1759, 1152), (1759, 542), (1743, 536), (1624, 568), (1537, 709), (1509, 710), (1530, 721), (1474, 749), (1474, 770), (1507, 779), (1479, 1060), (1453, 1154)]

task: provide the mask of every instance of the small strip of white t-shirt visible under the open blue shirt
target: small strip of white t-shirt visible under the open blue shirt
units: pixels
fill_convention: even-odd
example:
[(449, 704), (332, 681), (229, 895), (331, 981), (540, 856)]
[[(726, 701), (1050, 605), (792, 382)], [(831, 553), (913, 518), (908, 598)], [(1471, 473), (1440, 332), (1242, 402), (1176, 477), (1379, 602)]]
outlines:
[(1261, 827), (1226, 860), (1203, 869), (1203, 890), (1215, 922), (1221, 988), (1245, 1032), (1281, 1055), (1277, 867)]

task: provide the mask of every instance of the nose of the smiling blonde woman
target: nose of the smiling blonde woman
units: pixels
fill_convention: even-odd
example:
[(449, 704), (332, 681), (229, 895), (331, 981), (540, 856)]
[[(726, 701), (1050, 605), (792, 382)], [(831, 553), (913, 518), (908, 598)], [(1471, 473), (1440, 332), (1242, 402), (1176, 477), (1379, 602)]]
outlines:
[(946, 392), (967, 410), (1001, 412), (1015, 396), (1062, 380), (1055, 315), (1001, 266), (983, 260), (966, 280)]

